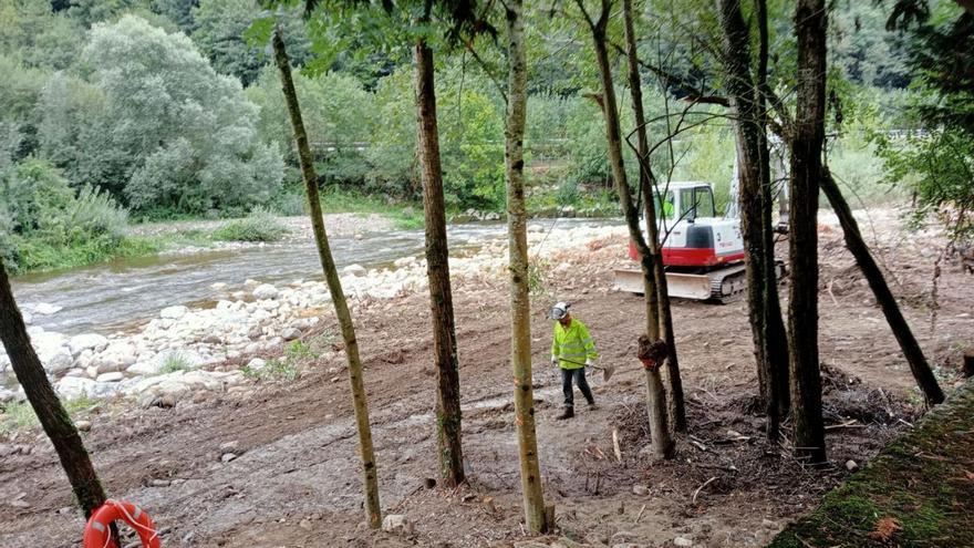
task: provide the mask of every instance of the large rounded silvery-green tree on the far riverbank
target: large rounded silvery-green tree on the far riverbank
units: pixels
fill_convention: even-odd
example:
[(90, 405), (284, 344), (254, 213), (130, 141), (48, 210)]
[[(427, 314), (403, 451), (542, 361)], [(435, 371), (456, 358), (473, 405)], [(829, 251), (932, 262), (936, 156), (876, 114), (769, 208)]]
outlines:
[(96, 24), (84, 59), (108, 101), (135, 208), (204, 213), (267, 201), (280, 185), (276, 147), (257, 138), (257, 107), (183, 34), (125, 15)]

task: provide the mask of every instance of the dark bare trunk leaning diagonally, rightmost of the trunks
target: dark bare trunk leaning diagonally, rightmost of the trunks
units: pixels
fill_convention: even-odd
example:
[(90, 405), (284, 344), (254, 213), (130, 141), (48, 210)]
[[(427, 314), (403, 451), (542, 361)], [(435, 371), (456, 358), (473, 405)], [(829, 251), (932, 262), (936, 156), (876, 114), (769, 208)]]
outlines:
[(943, 403), (943, 391), (941, 391), (940, 385), (936, 383), (936, 378), (933, 375), (930, 364), (926, 363), (926, 358), (923, 356), (923, 350), (913, 337), (913, 331), (910, 330), (906, 319), (903, 318), (903, 313), (900, 311), (899, 304), (897, 304), (897, 299), (893, 297), (892, 291), (890, 291), (885, 278), (883, 278), (882, 270), (875, 263), (872, 254), (869, 252), (866, 241), (862, 240), (859, 224), (852, 217), (849, 204), (842, 197), (842, 193), (832, 178), (832, 174), (825, 166), (822, 167), (821, 187), (826, 197), (829, 198), (829, 204), (831, 204), (832, 209), (839, 217), (839, 223), (842, 225), (846, 247), (849, 248), (849, 251), (859, 265), (859, 269), (862, 270), (862, 275), (869, 281), (869, 287), (872, 288), (872, 293), (882, 308), (887, 322), (890, 324), (897, 342), (900, 343), (900, 349), (903, 351), (906, 362), (910, 363), (910, 371), (913, 373), (913, 378), (916, 379), (920, 390), (923, 391), (926, 404), (936, 405)]

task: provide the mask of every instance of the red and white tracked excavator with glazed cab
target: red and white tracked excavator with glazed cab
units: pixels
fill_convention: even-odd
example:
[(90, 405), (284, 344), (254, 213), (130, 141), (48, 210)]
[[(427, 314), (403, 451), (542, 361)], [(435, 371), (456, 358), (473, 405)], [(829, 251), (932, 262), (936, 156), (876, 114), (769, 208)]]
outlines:
[[(740, 219), (717, 217), (711, 184), (670, 183), (665, 197), (656, 197), (655, 209), (670, 297), (724, 302), (744, 291)], [(639, 260), (632, 242), (629, 256)], [(615, 288), (642, 293), (642, 271), (616, 269)]]

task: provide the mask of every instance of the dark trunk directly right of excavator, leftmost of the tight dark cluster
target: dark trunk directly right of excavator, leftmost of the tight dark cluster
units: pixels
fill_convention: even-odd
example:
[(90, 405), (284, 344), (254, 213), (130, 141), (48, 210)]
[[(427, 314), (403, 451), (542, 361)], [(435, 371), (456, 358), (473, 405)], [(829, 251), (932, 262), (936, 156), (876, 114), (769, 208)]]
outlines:
[[(750, 332), (757, 361), (760, 400), (768, 415), (767, 434), (778, 436), (780, 423), (779, 391), (781, 370), (787, 369), (787, 354), (774, 355), (773, 345), (780, 350), (784, 324), (778, 304), (777, 280), (774, 269), (774, 242), (768, 242), (770, 218), (766, 219), (766, 200), (770, 198), (768, 174), (769, 153), (763, 132), (760, 93), (750, 77), (750, 31), (744, 22), (739, 0), (718, 0), (721, 27), (724, 37), (724, 70), (731, 108), (735, 114), (737, 149), (740, 158), (740, 229), (744, 235), (744, 263), (747, 271), (747, 303)], [(777, 309), (777, 318), (771, 310)], [(777, 322), (781, 333), (773, 333)], [(776, 361), (776, 359), (778, 361)], [(787, 378), (787, 376), (786, 376)]]

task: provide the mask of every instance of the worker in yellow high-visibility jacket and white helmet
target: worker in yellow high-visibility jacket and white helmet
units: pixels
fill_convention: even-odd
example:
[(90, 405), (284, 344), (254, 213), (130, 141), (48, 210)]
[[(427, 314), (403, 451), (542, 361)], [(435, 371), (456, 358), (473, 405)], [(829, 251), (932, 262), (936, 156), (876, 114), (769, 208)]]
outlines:
[(551, 341), (551, 364), (561, 368), (561, 390), (564, 392), (564, 411), (559, 421), (574, 416), (574, 392), (572, 380), (578, 384), (582, 395), (589, 402), (589, 409), (595, 409), (595, 399), (586, 380), (586, 366), (594, 365), (599, 352), (589, 329), (580, 320), (571, 317), (571, 304), (558, 302), (548, 312), (555, 321), (555, 333)]

